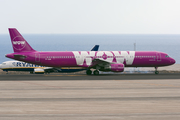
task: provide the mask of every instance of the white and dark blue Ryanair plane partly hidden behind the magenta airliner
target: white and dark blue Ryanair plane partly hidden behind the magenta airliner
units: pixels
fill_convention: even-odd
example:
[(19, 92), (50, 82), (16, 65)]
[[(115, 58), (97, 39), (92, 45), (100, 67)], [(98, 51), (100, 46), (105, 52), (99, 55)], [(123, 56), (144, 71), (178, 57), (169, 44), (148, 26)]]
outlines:
[[(95, 45), (91, 51), (98, 51), (99, 45)], [(35, 65), (31, 63), (21, 62), (21, 61), (5, 61), (0, 64), (0, 69), (3, 71), (29, 71), (30, 73), (43, 74), (51, 72), (78, 72), (86, 70), (82, 67), (45, 67), (40, 65)]]

